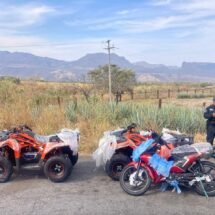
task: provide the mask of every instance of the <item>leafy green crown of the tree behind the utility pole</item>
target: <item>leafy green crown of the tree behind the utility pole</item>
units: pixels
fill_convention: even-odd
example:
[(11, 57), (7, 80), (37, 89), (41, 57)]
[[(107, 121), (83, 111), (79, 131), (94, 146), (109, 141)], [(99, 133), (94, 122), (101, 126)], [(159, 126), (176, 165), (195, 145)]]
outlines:
[[(94, 86), (102, 90), (108, 91), (108, 65), (94, 69), (88, 73), (90, 80)], [(135, 73), (130, 69), (122, 69), (116, 65), (111, 65), (112, 93), (115, 95), (123, 94), (127, 91), (133, 94), (133, 87), (136, 82)]]

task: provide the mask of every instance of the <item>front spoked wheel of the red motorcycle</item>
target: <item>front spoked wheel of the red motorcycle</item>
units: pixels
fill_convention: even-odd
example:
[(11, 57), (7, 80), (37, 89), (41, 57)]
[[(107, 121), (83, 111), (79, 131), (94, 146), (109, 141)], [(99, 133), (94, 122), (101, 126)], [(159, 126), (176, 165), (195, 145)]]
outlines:
[(151, 178), (146, 169), (141, 167), (137, 175), (137, 169), (129, 165), (121, 172), (120, 185), (126, 193), (140, 196), (149, 189)]

